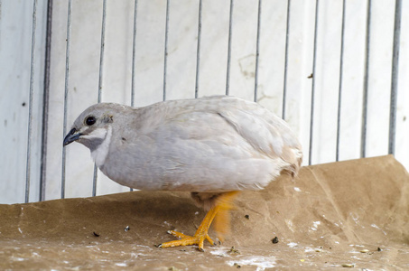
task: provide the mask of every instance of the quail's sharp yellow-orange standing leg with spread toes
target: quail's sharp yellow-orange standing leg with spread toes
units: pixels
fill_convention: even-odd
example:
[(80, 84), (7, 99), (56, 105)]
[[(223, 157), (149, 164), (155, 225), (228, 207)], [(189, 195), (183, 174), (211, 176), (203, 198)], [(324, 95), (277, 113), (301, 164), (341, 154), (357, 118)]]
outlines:
[[(172, 236), (176, 238), (181, 238), (180, 240), (174, 240), (170, 242), (165, 242), (159, 245), (159, 248), (171, 248), (171, 247), (178, 247), (178, 246), (191, 246), (191, 245), (198, 245), (200, 251), (203, 250), (203, 242), (205, 239), (209, 241), (211, 245), (214, 245), (214, 242), (211, 238), (209, 238), (208, 231), (211, 225), (211, 222), (215, 219), (218, 215), (219, 211), (223, 213), (223, 219), (226, 217), (226, 213), (228, 210), (231, 209), (230, 202), (235, 198), (238, 192), (227, 192), (221, 194), (216, 202), (216, 205), (209, 210), (206, 214), (205, 218), (201, 221), (199, 229), (196, 230), (194, 236), (184, 235), (181, 232), (177, 232), (174, 230), (169, 230), (168, 232), (172, 234)], [(228, 222), (228, 221), (227, 221)], [(220, 228), (220, 223), (218, 223), (218, 228)], [(222, 232), (227, 232), (227, 230), (222, 230)]]

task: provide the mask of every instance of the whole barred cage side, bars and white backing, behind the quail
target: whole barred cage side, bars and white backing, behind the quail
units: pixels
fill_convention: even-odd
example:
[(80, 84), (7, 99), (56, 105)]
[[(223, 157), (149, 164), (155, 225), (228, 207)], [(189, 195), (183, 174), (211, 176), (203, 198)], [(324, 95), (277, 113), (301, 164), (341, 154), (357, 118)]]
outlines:
[(0, 203), (128, 191), (62, 138), (86, 107), (233, 95), (300, 136), (304, 164), (409, 165), (409, 5), (0, 0)]

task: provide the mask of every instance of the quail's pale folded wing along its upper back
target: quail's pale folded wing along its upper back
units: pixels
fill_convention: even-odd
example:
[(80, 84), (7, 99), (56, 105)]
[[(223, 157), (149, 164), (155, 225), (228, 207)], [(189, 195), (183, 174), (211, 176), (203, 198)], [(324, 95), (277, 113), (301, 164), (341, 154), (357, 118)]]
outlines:
[(239, 144), (238, 147), (246, 143), (257, 154), (292, 164), (293, 172), (297, 172), (302, 163), (302, 148), (290, 127), (256, 103), (217, 96), (190, 100), (177, 108), (163, 123), (172, 135), (213, 137), (225, 144)]

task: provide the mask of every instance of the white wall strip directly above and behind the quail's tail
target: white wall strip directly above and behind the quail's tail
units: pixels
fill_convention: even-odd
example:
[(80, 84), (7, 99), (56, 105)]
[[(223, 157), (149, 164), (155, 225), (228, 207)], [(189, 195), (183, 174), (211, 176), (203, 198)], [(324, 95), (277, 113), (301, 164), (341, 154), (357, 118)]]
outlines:
[[(288, 44), (285, 120), (300, 136), (308, 163), (311, 117), (311, 78), (315, 25), (314, 1), (292, 1)], [(283, 68), (281, 68), (283, 69)]]

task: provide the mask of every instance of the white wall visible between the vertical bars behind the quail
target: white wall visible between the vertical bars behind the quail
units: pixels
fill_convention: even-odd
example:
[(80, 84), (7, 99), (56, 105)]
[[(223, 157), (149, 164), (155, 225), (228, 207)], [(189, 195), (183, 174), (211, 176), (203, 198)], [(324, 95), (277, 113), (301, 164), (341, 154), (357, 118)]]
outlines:
[[(7, 134), (0, 133), (0, 203), (23, 201), (25, 141), (31, 51), (31, 13), (28, 1), (1, 1), (0, 17), (0, 112), (7, 116)], [(43, 50), (45, 1), (39, 1), (37, 44)], [(230, 94), (254, 98), (258, 1), (236, 0), (233, 11)], [(193, 98), (195, 91), (199, 1), (170, 1), (166, 97)], [(226, 88), (228, 15), (230, 1), (203, 1), (200, 43), (199, 96), (223, 94)], [(308, 160), (315, 1), (291, 1), (288, 51), (286, 120), (300, 135)], [(22, 5), (22, 6), (16, 6)], [(284, 87), (285, 1), (263, 1), (260, 28), (258, 101), (281, 115)], [(367, 156), (387, 154), (389, 97), (395, 5), (373, 0), (371, 13), (368, 89)], [(17, 8), (18, 7), (18, 8)], [(46, 199), (60, 198), (62, 119), (65, 50), (67, 37), (65, 1), (54, 1), (51, 44), (51, 93), (47, 148)], [(408, 14), (404, 1), (399, 66), (396, 158), (409, 166)], [(15, 13), (12, 15), (12, 13)], [(163, 61), (166, 1), (139, 0), (136, 35), (135, 106), (163, 98)], [(10, 14), (10, 15), (5, 15)], [(18, 16), (17, 16), (18, 15)], [(365, 72), (367, 1), (346, 1), (346, 30), (342, 79), (340, 160), (359, 157), (362, 96)], [(102, 100), (130, 104), (134, 1), (107, 1), (105, 65)], [(342, 2), (321, 1), (318, 14), (317, 66), (312, 164), (335, 160), (339, 91), (339, 58)], [(23, 23), (22, 23), (23, 22)], [(73, 1), (70, 50), (69, 127), (79, 113), (98, 99), (102, 1)], [(12, 26), (7, 26), (13, 24)], [(8, 31), (8, 33), (7, 33)], [(11, 36), (12, 39), (5, 39)], [(19, 38), (17, 38), (19, 37)], [(23, 40), (23, 41), (22, 41)], [(17, 46), (18, 45), (18, 46)], [(41, 46), (42, 45), (42, 46)], [(35, 97), (42, 97), (42, 53), (36, 71)], [(18, 57), (16, 57), (16, 55)], [(14, 69), (9, 64), (18, 63)], [(17, 64), (15, 64), (17, 65)], [(15, 79), (22, 74), (24, 79)], [(6, 88), (4, 87), (6, 86)], [(16, 94), (18, 93), (18, 94)], [(40, 100), (34, 126), (41, 127)], [(12, 112), (19, 121), (11, 126)], [(69, 128), (67, 127), (67, 128)], [(9, 134), (10, 133), (10, 134)], [(18, 138), (12, 143), (12, 137)], [(33, 147), (39, 150), (40, 134)], [(13, 145), (13, 147), (11, 147)], [(39, 175), (38, 151), (34, 152), (33, 179)], [(36, 163), (37, 161), (37, 163)], [(9, 163), (5, 165), (5, 162)], [(307, 161), (308, 162), (308, 161)], [(37, 172), (36, 172), (37, 171)], [(79, 144), (67, 148), (66, 197), (85, 197), (92, 192), (93, 163), (88, 149)], [(37, 178), (38, 179), (38, 178)], [(98, 194), (128, 189), (98, 174)], [(38, 200), (33, 182), (31, 200)]]

